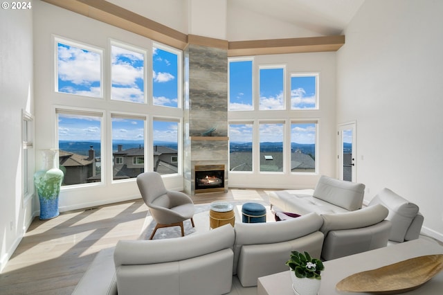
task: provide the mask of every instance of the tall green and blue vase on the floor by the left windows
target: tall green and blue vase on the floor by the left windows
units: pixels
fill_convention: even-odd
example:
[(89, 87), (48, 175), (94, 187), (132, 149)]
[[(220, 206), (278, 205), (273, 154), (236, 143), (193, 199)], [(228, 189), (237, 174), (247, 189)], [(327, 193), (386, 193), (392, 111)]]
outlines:
[(64, 174), (55, 164), (55, 159), (58, 163), (57, 150), (42, 150), (42, 152), (43, 169), (35, 172), (34, 183), (40, 202), (39, 219), (48, 220), (60, 214), (58, 211), (58, 197)]

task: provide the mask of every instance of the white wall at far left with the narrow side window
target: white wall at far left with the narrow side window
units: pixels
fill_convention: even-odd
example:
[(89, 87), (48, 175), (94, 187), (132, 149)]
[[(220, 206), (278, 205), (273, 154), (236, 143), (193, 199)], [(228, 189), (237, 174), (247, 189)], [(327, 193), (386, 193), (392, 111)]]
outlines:
[[(33, 113), (33, 15), (0, 10), (0, 271), (32, 221), (32, 198), (21, 195), (21, 114)], [(30, 155), (33, 157), (33, 155)]]

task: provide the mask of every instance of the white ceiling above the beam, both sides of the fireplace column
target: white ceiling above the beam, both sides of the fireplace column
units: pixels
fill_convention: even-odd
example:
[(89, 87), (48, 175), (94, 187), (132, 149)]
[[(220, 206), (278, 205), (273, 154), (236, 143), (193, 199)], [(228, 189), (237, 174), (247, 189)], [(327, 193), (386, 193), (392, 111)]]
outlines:
[[(107, 0), (127, 10), (180, 30), (186, 26), (184, 0)], [(202, 1), (202, 0), (199, 0)], [(213, 0), (214, 1), (214, 0)], [(318, 35), (339, 35), (365, 0), (226, 0), (231, 8), (250, 10), (257, 15), (278, 19)], [(155, 3), (155, 5), (150, 5)], [(168, 19), (164, 12), (174, 7), (182, 17)], [(228, 16), (229, 17), (229, 16)]]

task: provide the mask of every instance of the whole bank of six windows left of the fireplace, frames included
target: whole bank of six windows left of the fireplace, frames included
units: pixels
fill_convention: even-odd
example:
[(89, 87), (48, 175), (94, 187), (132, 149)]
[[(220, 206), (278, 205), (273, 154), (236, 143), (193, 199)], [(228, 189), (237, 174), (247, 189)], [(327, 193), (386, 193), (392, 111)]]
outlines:
[(182, 52), (157, 43), (145, 48), (107, 41), (107, 48), (98, 48), (54, 37), (64, 189), (119, 184), (145, 170), (181, 174)]

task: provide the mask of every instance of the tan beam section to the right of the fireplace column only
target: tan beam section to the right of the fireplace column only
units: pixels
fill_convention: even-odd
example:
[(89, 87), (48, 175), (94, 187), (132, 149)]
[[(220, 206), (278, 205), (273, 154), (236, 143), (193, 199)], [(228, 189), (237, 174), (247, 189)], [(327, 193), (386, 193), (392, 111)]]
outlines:
[(228, 56), (337, 51), (345, 36), (305, 37), (229, 42)]

